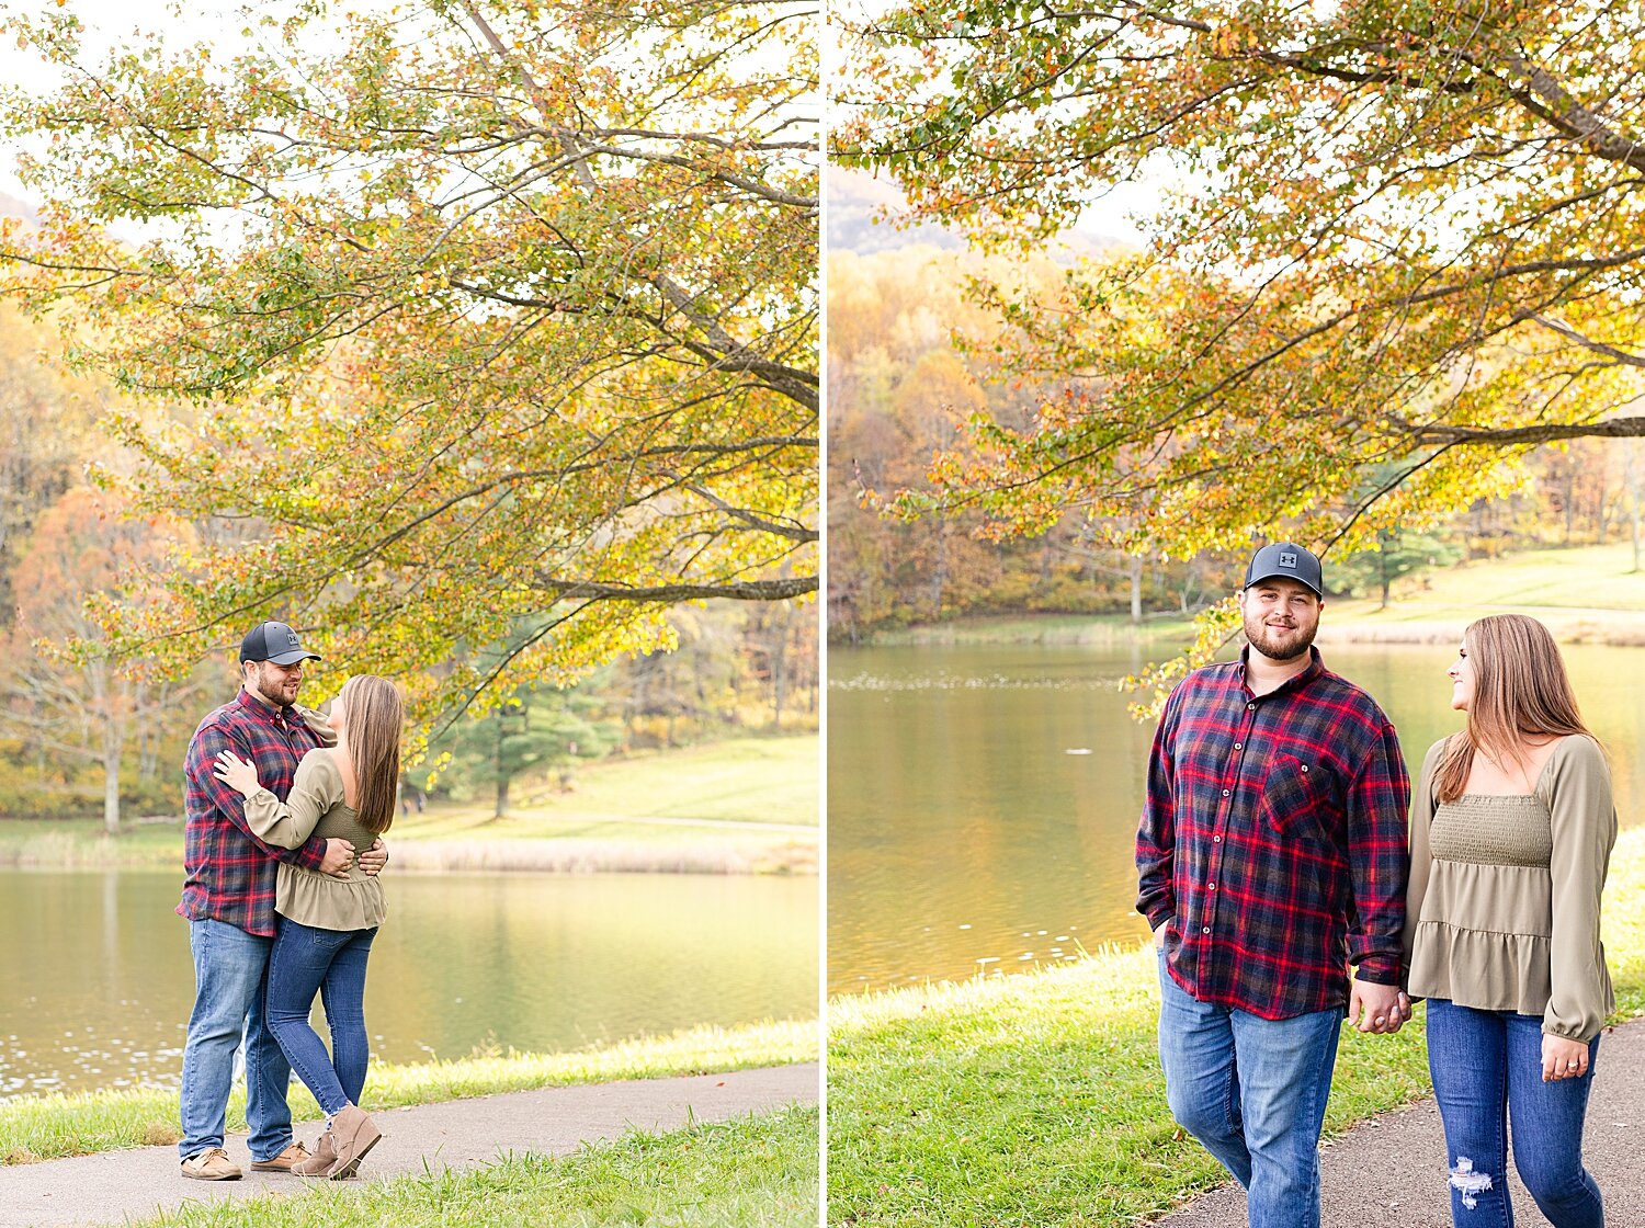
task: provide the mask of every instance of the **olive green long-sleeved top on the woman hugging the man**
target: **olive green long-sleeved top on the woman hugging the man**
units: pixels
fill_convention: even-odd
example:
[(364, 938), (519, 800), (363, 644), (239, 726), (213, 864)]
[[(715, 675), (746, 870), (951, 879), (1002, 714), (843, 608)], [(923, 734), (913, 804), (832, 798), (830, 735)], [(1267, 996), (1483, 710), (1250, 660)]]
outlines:
[[(311, 835), (321, 835), (347, 840), (364, 853), (377, 840), (344, 801), (342, 773), (329, 750), (303, 756), (285, 802), (268, 789), (247, 797), (245, 822), (260, 838), (281, 848), (296, 848)], [(314, 929), (372, 929), (383, 924), (388, 909), (382, 883), (360, 870), (359, 861), (349, 866), (347, 881), (281, 861), (275, 912)]]

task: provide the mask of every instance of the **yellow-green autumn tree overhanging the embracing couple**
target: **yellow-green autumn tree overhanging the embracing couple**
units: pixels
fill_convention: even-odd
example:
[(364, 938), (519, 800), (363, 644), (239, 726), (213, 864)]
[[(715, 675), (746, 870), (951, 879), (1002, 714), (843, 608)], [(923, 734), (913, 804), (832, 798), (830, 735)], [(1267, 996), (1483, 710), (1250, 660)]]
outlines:
[[(7, 26), (64, 84), (0, 99), (43, 201), (0, 291), (171, 406), (110, 419), (141, 465), (104, 480), (202, 531), (112, 651), (285, 616), (454, 662), (426, 715), (816, 590), (806, 5), (311, 3), (105, 64), (71, 13)], [(457, 659), (518, 618), (507, 682)]]

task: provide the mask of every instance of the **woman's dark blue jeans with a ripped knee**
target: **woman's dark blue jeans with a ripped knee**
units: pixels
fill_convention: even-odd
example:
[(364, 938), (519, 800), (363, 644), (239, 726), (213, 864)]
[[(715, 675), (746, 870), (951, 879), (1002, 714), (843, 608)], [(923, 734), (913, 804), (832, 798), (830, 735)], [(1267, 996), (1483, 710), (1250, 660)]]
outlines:
[(1513, 1228), (1507, 1133), (1513, 1167), (1553, 1228), (1604, 1228), (1599, 1187), (1582, 1167), (1582, 1120), (1594, 1085), (1599, 1037), (1587, 1042), (1587, 1073), (1541, 1078), (1541, 1016), (1476, 1011), (1428, 999), (1428, 1069), (1444, 1120), (1451, 1220), (1471, 1228)]

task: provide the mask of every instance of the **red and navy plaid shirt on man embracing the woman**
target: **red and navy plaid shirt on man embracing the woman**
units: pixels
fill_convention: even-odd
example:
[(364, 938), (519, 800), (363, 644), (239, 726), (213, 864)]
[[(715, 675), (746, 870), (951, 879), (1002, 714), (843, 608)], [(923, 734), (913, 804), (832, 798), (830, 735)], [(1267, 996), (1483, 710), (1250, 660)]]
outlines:
[(219, 751), (232, 750), (255, 763), (257, 779), (285, 801), (298, 759), (319, 745), (319, 735), (294, 712), (276, 710), (245, 690), (199, 723), (184, 766), (188, 845), (183, 866), (188, 878), (179, 914), (273, 937), (276, 858), (319, 870), (326, 842), (309, 837), (301, 848), (291, 850), (265, 845), (247, 827), (245, 799), (217, 779), (212, 764)]

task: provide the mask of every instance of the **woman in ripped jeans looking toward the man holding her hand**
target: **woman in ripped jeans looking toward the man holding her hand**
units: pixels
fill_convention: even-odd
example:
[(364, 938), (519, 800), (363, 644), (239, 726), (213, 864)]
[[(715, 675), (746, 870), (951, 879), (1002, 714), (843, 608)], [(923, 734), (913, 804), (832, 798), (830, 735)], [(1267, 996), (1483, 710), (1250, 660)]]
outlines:
[(1614, 1008), (1599, 894), (1617, 833), (1606, 756), (1548, 628), (1480, 618), (1451, 664), (1467, 727), (1413, 797), (1405, 949), (1428, 998), (1428, 1067), (1456, 1225), (1512, 1225), (1513, 1164), (1555, 1228), (1601, 1228), (1582, 1167), (1599, 1032)]

